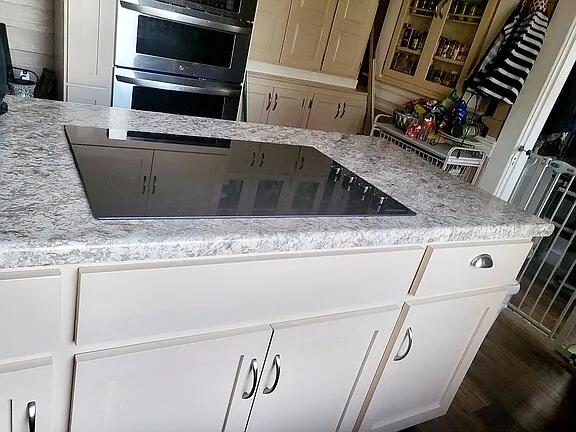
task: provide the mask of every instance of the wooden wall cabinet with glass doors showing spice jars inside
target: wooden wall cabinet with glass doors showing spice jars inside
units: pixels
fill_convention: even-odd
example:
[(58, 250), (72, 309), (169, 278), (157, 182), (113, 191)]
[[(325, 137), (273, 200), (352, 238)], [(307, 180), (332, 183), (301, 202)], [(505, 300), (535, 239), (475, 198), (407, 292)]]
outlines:
[[(500, 0), (392, 0), (399, 11), (380, 78), (443, 98), (462, 89), (478, 60)], [(388, 20), (388, 23), (393, 21)]]

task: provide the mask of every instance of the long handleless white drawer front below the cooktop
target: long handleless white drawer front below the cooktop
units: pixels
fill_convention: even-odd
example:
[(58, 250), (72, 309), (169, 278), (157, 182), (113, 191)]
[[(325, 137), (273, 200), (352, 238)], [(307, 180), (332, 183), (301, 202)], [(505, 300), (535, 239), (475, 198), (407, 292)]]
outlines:
[(421, 248), (80, 269), (76, 342), (258, 325), (399, 303)]

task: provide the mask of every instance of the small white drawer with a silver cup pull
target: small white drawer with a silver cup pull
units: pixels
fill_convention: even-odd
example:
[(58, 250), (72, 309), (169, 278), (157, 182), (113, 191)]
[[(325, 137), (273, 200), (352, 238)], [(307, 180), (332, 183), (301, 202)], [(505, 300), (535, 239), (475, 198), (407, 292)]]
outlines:
[(503, 286), (516, 279), (531, 247), (529, 241), (430, 246), (410, 293), (432, 296)]

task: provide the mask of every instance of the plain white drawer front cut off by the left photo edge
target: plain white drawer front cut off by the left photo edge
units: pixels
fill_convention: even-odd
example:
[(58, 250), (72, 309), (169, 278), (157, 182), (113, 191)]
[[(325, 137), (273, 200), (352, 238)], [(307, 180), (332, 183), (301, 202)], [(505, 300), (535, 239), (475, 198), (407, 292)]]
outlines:
[(0, 360), (49, 351), (58, 341), (58, 271), (0, 272)]

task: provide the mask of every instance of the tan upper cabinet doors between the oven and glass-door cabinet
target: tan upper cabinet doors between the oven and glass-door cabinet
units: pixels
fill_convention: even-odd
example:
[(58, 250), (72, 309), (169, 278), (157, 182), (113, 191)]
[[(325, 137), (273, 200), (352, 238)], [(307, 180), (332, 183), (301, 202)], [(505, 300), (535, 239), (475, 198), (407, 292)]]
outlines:
[(260, 0), (250, 58), (356, 78), (378, 0)]

